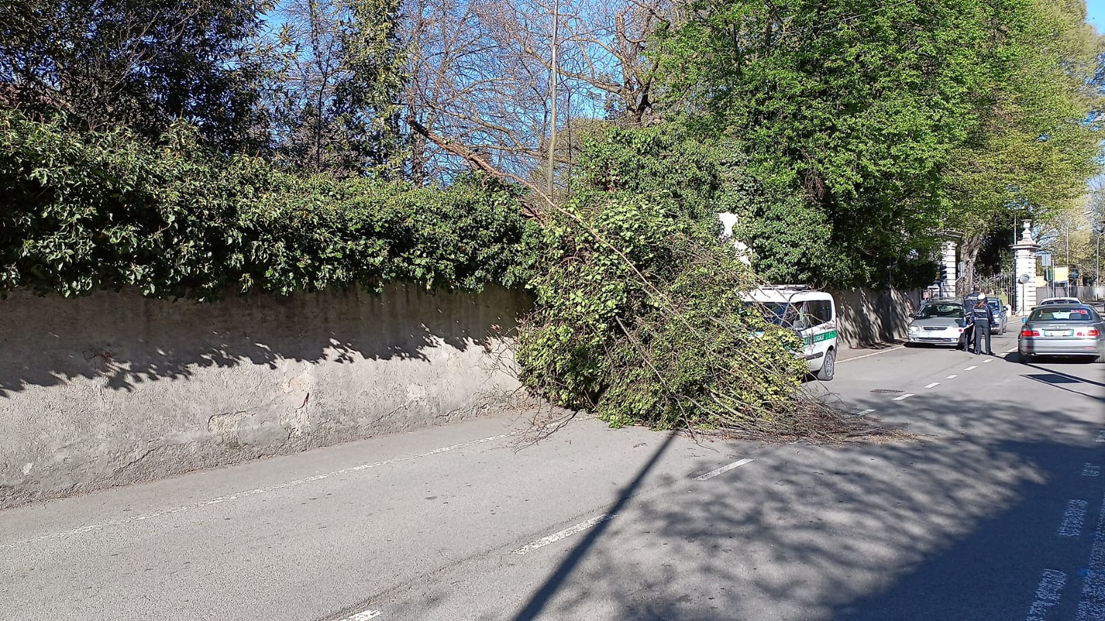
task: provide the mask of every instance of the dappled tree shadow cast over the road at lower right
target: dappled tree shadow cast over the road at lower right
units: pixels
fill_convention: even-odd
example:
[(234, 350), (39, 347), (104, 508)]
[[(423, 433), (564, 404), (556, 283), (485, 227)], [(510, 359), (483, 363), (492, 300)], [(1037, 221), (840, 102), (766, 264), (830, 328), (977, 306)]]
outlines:
[(1074, 618), (1105, 488), (1102, 413), (934, 394), (894, 412), (926, 442), (761, 446), (729, 475), (639, 490), (657, 451), (617, 519), (492, 618), (1010, 619), (1045, 569), (1066, 577), (1052, 613)]

